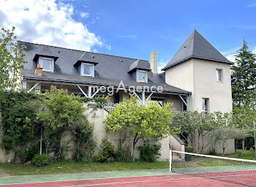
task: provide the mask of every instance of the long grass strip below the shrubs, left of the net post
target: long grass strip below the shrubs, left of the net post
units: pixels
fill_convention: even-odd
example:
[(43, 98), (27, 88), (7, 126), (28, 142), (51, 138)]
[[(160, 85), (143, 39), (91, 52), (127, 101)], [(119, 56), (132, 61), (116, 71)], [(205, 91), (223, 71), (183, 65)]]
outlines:
[[(34, 167), (31, 164), (0, 164), (1, 169), (9, 175), (43, 175), (56, 173), (75, 173), (75, 172), (102, 172), (114, 170), (132, 169), (164, 169), (169, 168), (168, 161), (157, 162), (113, 162), (113, 163), (84, 163), (72, 161), (52, 162), (45, 167)], [(174, 164), (174, 167), (182, 167)]]

